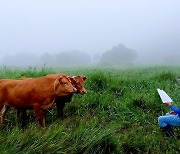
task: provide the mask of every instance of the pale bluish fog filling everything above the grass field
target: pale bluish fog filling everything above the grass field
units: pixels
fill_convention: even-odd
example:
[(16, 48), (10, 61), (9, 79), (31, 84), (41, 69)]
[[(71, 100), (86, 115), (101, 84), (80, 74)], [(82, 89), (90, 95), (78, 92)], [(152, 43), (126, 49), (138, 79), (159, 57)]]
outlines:
[(0, 64), (180, 64), (179, 8), (179, 0), (0, 0)]

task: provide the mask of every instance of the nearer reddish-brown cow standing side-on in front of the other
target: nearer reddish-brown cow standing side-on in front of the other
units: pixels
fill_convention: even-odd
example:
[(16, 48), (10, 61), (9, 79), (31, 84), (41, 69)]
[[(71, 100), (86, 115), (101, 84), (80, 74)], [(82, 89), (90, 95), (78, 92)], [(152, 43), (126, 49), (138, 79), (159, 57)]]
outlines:
[(26, 80), (0, 80), (0, 110), (3, 109), (1, 123), (4, 122), (8, 106), (16, 109), (34, 109), (36, 119), (41, 126), (45, 125), (47, 109), (59, 96), (75, 93), (77, 90), (66, 76), (56, 78), (39, 77)]

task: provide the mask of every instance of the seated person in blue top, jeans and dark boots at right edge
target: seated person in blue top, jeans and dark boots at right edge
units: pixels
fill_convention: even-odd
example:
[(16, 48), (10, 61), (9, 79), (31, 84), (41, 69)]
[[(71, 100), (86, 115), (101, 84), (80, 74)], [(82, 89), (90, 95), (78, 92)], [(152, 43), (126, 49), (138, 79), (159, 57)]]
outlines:
[(165, 103), (172, 110), (164, 116), (158, 118), (160, 128), (166, 133), (168, 137), (174, 137), (174, 132), (171, 126), (180, 126), (180, 108), (174, 107), (171, 102)]

